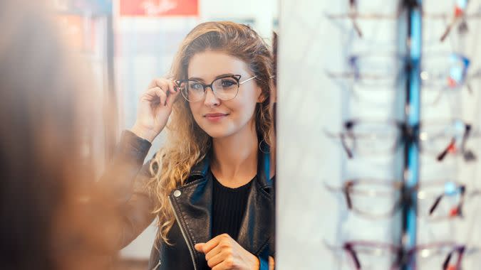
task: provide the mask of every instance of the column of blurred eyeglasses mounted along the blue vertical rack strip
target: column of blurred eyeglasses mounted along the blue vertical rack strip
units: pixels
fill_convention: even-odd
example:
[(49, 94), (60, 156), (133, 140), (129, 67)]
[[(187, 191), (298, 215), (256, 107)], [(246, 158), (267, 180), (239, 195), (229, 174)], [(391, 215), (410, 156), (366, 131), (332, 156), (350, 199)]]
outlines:
[[(386, 10), (391, 9), (388, 12), (378, 11), (372, 4), (362, 6), (366, 11), (360, 12), (358, 2), (349, 1), (347, 13), (341, 11), (326, 14), (334, 25), (348, 29), (341, 33), (341, 37), (345, 35), (347, 43), (344, 44), (351, 45), (346, 48), (346, 65), (351, 71), (338, 72), (328, 69), (326, 72), (331, 79), (337, 80), (341, 87), (347, 85), (348, 92), (344, 93), (348, 95), (343, 95), (341, 100), (346, 100), (346, 97), (349, 100), (341, 102), (343, 118), (346, 119), (343, 121), (342, 131), (331, 132), (327, 128), (325, 133), (341, 142), (349, 159), (362, 157), (363, 154), (372, 154), (371, 157), (379, 158), (378, 163), (373, 162), (372, 165), (369, 162), (376, 159), (366, 158), (368, 163), (363, 163), (363, 158), (360, 158), (360, 162), (341, 163), (341, 172), (347, 175), (341, 180), (343, 183), (340, 187), (326, 183), (326, 188), (343, 194), (349, 211), (367, 217), (366, 225), (379, 217), (392, 217), (391, 220), (386, 219), (391, 225), (384, 226), (381, 222), (374, 222), (371, 229), (351, 236), (349, 234), (356, 230), (350, 229), (349, 225), (354, 222), (349, 221), (356, 221), (357, 217), (348, 219), (346, 215), (340, 215), (338, 232), (341, 232), (339, 235), (345, 239), (337, 245), (326, 242), (326, 247), (332, 252), (345, 252), (355, 269), (366, 269), (366, 266), (377, 263), (365, 258), (360, 259), (363, 254), (371, 254), (373, 257), (391, 254), (395, 258), (391, 267), (411, 270), (433, 263), (434, 260), (428, 260), (443, 252), (447, 253), (440, 264), (443, 269), (451, 269), (460, 267), (463, 254), (474, 250), (465, 252), (465, 244), (457, 244), (457, 239), (440, 240), (433, 233), (433, 228), (438, 226), (434, 225), (436, 221), (451, 221), (453, 217), (463, 217), (465, 185), (460, 182), (463, 179), (460, 178), (458, 167), (445, 161), (445, 156), (456, 156), (460, 153), (464, 161), (475, 161), (475, 154), (465, 148), (465, 144), (468, 137), (478, 136), (473, 133), (471, 124), (456, 118), (457, 114), (464, 112), (460, 110), (460, 102), (447, 99), (451, 111), (445, 107), (437, 107), (436, 104), (441, 93), (448, 90), (459, 95), (460, 91), (455, 90), (467, 87), (472, 94), (468, 80), (479, 77), (481, 73), (476, 70), (467, 72), (470, 59), (464, 55), (464, 48), (450, 48), (455, 39), (453, 34), (450, 36), (450, 43), (443, 42), (455, 26), (458, 34), (466, 33), (467, 18), (479, 18), (480, 13), (467, 13), (467, 1), (463, 0), (453, 1), (452, 13), (436, 13), (439, 11), (435, 6), (430, 6), (428, 11), (424, 12), (423, 5), (429, 6), (426, 2), (428, 1), (401, 0), (396, 6), (386, 6)], [(442, 24), (437, 22), (438, 27), (444, 27), (444, 32), (426, 30), (425, 35), (428, 37), (436, 36), (435, 40), (430, 41), (423, 35), (423, 29), (434, 26), (433, 21), (430, 21), (433, 18), (442, 18)], [(368, 27), (370, 23), (371, 28)], [(359, 43), (356, 43), (357, 41)], [(443, 46), (444, 51), (438, 51)], [(383, 51), (386, 49), (384, 47), (387, 48), (386, 51)], [(444, 58), (443, 55), (449, 55), (449, 58)], [(430, 62), (438, 58), (443, 61), (434, 64)], [(366, 93), (371, 100), (366, 96), (362, 97)], [(435, 101), (428, 102), (433, 94), (437, 96)], [(457, 98), (460, 99), (461, 96)], [(368, 102), (378, 102), (380, 105), (365, 107)], [(346, 104), (348, 106), (345, 106)], [(457, 112), (455, 107), (451, 107), (453, 104), (457, 105)], [(432, 107), (427, 109), (429, 106)], [(423, 112), (421, 121), (421, 107), (431, 114), (434, 112), (433, 119), (430, 119), (429, 112)], [(354, 114), (355, 118), (351, 114)], [(393, 155), (383, 155), (384, 153)], [(428, 155), (425, 155), (426, 153)], [(435, 156), (436, 163), (428, 161), (426, 156)], [(439, 164), (436, 165), (437, 163)], [(421, 164), (423, 170), (420, 168)], [(368, 166), (373, 166), (374, 170), (366, 169)], [(441, 167), (443, 169), (440, 169)], [(395, 175), (393, 178), (391, 172)], [(439, 189), (435, 190), (435, 186)], [(470, 191), (472, 195), (479, 193), (475, 188), (470, 188)], [(370, 199), (377, 201), (369, 202)], [(451, 205), (452, 202), (455, 204)], [(401, 211), (398, 212), (397, 209)], [(361, 222), (364, 221), (359, 220), (356, 226)], [(433, 227), (425, 229), (429, 223)], [(445, 222), (443, 225), (450, 227), (452, 223)], [(373, 229), (374, 227), (378, 230)], [(382, 234), (392, 237), (393, 241), (378, 241), (376, 237)], [(444, 235), (450, 238), (447, 237), (450, 233), (445, 232)], [(384, 256), (385, 259), (387, 257)]]

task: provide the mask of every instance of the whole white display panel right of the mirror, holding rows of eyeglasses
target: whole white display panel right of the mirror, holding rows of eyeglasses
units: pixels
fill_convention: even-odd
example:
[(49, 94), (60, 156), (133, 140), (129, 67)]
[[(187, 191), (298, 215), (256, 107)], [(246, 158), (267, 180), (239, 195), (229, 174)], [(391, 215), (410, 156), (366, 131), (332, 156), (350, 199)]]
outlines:
[(481, 1), (280, 14), (276, 264), (480, 269)]

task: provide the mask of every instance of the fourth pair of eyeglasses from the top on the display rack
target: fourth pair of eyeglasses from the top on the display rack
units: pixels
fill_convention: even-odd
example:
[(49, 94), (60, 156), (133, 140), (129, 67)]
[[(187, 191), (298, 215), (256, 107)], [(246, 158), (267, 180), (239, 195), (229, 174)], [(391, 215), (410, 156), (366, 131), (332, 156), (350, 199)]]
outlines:
[(411, 203), (413, 193), (420, 218), (434, 221), (462, 217), (465, 199), (480, 195), (480, 190), (467, 193), (465, 185), (453, 180), (430, 180), (413, 188), (405, 188), (397, 180), (376, 179), (347, 180), (341, 187), (324, 185), (343, 194), (348, 210), (371, 219), (393, 216), (403, 205)]

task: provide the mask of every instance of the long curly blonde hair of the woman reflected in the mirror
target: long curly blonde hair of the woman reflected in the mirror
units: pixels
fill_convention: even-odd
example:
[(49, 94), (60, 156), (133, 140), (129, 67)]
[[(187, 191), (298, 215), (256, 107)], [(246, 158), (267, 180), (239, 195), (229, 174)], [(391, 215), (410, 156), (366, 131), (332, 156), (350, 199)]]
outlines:
[[(220, 51), (243, 60), (257, 76), (255, 80), (265, 99), (257, 104), (254, 112), (256, 131), (259, 138), (270, 146), (273, 121), (269, 97), (274, 85), (274, 63), (269, 45), (252, 28), (243, 24), (229, 21), (201, 23), (187, 34), (180, 45), (172, 63), (172, 79), (186, 78), (192, 56), (206, 50)], [(155, 198), (153, 213), (159, 217), (157, 238), (162, 238), (167, 244), (167, 234), (175, 222), (168, 195), (184, 184), (192, 166), (205, 158), (212, 146), (212, 138), (197, 125), (185, 99), (177, 99), (170, 118), (167, 141), (150, 163), (153, 176), (148, 182), (150, 195)]]

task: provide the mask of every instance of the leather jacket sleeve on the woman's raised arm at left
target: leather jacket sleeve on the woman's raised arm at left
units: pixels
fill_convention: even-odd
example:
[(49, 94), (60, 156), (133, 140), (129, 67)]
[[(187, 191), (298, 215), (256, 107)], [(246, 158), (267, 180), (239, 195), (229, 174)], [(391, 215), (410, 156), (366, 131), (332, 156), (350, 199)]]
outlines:
[(115, 248), (130, 244), (154, 220), (154, 204), (145, 188), (150, 161), (143, 165), (150, 142), (124, 131), (112, 161), (96, 183), (98, 198), (115, 218)]

